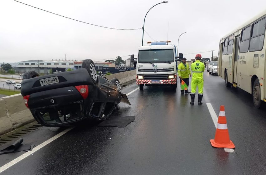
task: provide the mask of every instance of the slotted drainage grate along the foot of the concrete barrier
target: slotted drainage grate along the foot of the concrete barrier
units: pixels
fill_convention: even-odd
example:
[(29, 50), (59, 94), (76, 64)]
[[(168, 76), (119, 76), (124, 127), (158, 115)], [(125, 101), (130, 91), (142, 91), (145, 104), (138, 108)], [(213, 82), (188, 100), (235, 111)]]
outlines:
[(4, 134), (0, 136), (0, 146), (6, 144), (8, 142), (12, 142), (17, 140), (18, 138), (23, 137), (25, 134), (31, 133), (36, 129), (40, 128), (42, 125), (38, 124), (37, 122), (30, 123), (23, 127), (20, 127), (12, 132)]

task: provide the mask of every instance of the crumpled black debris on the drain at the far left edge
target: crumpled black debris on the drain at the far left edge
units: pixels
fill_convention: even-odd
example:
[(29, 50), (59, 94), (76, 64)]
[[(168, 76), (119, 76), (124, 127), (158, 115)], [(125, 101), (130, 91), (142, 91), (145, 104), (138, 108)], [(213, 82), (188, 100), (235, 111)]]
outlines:
[(16, 153), (16, 152), (26, 152), (31, 151), (34, 147), (34, 145), (21, 144), (23, 142), (23, 139), (20, 138), (16, 140), (12, 145), (3, 145), (0, 147), (0, 154), (8, 154), (8, 153)]

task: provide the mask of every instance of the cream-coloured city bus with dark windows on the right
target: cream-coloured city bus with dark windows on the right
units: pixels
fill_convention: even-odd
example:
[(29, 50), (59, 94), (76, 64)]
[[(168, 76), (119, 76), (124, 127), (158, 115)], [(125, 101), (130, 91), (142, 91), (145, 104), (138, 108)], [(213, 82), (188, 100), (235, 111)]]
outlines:
[(266, 102), (266, 10), (220, 39), (218, 75), (227, 87), (252, 94), (260, 108)]

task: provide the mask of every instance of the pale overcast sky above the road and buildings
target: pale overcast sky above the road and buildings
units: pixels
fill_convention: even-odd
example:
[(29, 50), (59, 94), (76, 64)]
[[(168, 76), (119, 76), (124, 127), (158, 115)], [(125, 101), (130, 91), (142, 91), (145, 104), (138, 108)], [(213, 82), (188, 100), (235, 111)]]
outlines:
[[(141, 28), (160, 0), (19, 0), (80, 21), (113, 28)], [(265, 0), (168, 0), (148, 13), (145, 31), (155, 41), (171, 40), (184, 57), (218, 50), (219, 39), (266, 9)], [(153, 41), (144, 32), (144, 45)], [(0, 62), (31, 59), (104, 61), (138, 54), (142, 30), (95, 27), (15, 2), (0, 0)], [(214, 56), (217, 56), (214, 52)], [(202, 53), (203, 58), (212, 53)]]

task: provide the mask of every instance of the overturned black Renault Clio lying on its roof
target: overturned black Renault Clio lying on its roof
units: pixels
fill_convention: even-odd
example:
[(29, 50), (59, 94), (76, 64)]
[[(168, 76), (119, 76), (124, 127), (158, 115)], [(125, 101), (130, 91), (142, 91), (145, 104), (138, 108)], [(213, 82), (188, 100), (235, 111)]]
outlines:
[(130, 104), (118, 79), (97, 76), (90, 59), (81, 67), (44, 76), (35, 71), (24, 73), (21, 94), (36, 121), (43, 126), (62, 126), (85, 118), (104, 120), (119, 109), (120, 102)]

